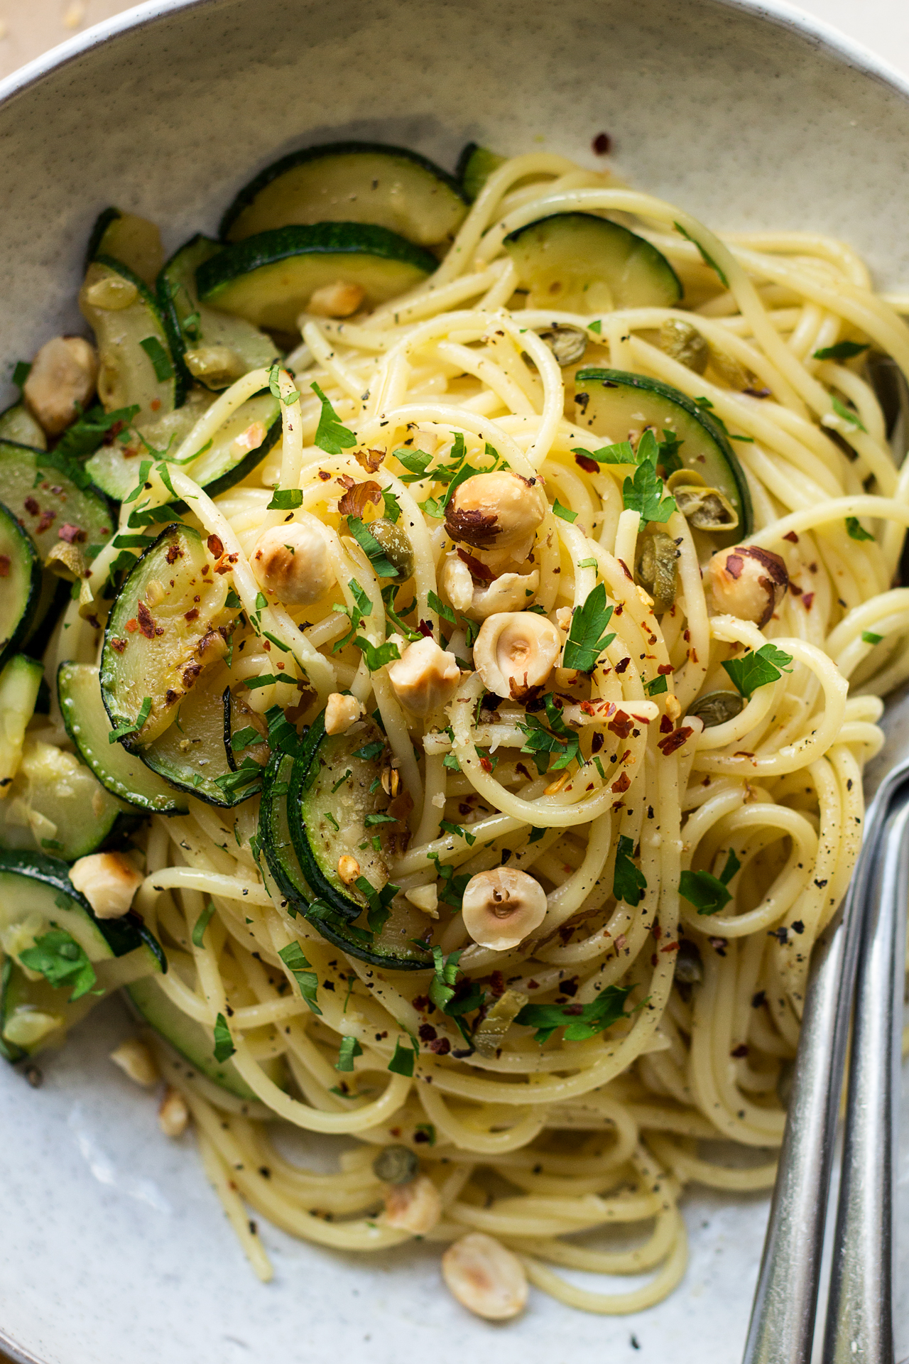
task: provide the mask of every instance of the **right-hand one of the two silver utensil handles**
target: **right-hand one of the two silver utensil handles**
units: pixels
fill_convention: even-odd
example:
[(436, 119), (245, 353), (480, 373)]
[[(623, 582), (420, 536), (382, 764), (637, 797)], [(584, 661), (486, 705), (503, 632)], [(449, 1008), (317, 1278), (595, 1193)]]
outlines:
[(859, 955), (825, 1364), (893, 1364), (893, 1199), (909, 794), (887, 816)]

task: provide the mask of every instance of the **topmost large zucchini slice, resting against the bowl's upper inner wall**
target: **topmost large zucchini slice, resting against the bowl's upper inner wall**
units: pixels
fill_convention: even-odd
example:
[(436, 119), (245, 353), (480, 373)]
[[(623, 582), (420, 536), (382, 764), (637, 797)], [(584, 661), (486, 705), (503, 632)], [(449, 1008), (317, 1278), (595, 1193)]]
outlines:
[(292, 151), (244, 186), (225, 241), (309, 222), (372, 222), (421, 247), (454, 240), (467, 213), (458, 180), (406, 147), (330, 142)]

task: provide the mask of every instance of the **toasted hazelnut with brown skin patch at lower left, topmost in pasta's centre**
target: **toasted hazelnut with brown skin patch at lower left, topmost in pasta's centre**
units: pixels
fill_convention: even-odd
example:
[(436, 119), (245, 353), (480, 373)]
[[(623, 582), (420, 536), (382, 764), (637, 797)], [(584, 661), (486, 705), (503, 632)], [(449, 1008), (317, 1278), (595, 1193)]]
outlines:
[(523, 559), (545, 514), (546, 499), (536, 479), (506, 469), (474, 473), (455, 488), (446, 507), (446, 531), (477, 550), (512, 550)]

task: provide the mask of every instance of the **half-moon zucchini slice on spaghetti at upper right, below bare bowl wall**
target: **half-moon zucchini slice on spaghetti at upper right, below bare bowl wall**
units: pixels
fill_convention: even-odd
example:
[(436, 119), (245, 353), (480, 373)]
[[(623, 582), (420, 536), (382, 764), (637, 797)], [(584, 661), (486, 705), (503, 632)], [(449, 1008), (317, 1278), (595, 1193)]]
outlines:
[(504, 240), (527, 289), (529, 308), (611, 312), (669, 308), (681, 297), (679, 276), (656, 247), (628, 228), (590, 213), (556, 213)]

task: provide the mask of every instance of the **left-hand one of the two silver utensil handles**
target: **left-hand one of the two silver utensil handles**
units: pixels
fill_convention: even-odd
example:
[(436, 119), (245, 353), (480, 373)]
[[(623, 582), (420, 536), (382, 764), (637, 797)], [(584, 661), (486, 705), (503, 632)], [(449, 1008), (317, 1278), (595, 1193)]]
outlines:
[[(890, 702), (883, 728), (884, 746), (868, 765), (865, 776), (865, 790), (872, 798), (867, 807), (861, 851), (842, 910), (822, 936), (812, 962), (780, 1173), (743, 1364), (780, 1364), (784, 1360), (785, 1364), (810, 1364), (811, 1360), (859, 949), (883, 846), (884, 821), (895, 792), (909, 776), (909, 689)], [(857, 1097), (856, 1113), (860, 1102)], [(861, 1140), (864, 1144), (865, 1139)], [(869, 1136), (867, 1140), (874, 1143), (879, 1138)], [(859, 1199), (857, 1191), (853, 1192), (854, 1199)], [(849, 1226), (852, 1234), (853, 1219)], [(861, 1274), (861, 1262), (853, 1263), (852, 1271)], [(854, 1281), (848, 1277), (842, 1281), (845, 1296), (838, 1299), (842, 1312), (846, 1312), (845, 1299), (849, 1297), (849, 1303), (854, 1300), (854, 1289), (848, 1289), (848, 1284)], [(880, 1288), (879, 1278), (878, 1285)], [(876, 1356), (859, 1353), (852, 1359), (865, 1364)], [(893, 1360), (893, 1352), (889, 1359)]]

